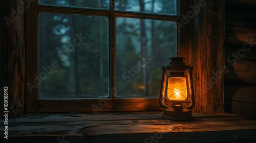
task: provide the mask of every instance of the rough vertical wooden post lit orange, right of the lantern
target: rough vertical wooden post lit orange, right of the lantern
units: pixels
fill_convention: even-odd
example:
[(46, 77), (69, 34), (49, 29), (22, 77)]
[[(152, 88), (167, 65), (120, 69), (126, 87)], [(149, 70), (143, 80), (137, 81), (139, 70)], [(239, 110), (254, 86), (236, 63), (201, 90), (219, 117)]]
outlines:
[(224, 1), (194, 0), (191, 6), (205, 2), (190, 23), (190, 65), (198, 113), (223, 112), (224, 101)]

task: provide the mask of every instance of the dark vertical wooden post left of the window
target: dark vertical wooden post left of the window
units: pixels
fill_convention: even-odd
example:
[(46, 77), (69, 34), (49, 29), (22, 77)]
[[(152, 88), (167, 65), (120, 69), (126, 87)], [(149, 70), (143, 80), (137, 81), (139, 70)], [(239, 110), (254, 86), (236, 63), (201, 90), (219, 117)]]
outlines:
[[(4, 23), (1, 28), (5, 28), (1, 32), (3, 41), (4, 60), (1, 67), (4, 67), (3, 80), (4, 85), (8, 86), (8, 117), (17, 117), (24, 114), (24, 98), (25, 98), (25, 8), (22, 5), (24, 0), (5, 0), (1, 2), (5, 10)], [(3, 5), (2, 5), (3, 4)], [(20, 8), (20, 9), (19, 9)], [(23, 9), (24, 8), (24, 9)], [(1, 13), (2, 15), (2, 13)], [(2, 98), (4, 87), (1, 86), (1, 114), (3, 113)]]

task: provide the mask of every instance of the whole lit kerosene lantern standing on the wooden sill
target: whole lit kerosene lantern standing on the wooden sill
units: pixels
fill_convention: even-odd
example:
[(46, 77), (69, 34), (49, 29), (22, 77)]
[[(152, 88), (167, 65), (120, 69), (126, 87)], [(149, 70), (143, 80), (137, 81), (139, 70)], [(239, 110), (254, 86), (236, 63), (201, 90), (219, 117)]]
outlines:
[(191, 71), (182, 57), (169, 58), (169, 65), (162, 66), (162, 82), (159, 104), (163, 118), (168, 120), (191, 120), (191, 109), (195, 106), (195, 96)]

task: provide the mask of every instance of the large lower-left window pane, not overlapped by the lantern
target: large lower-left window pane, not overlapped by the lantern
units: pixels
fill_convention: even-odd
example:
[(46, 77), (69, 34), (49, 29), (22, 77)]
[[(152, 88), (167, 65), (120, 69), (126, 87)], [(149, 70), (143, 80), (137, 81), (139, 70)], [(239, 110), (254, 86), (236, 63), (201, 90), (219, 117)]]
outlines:
[(109, 19), (39, 14), (39, 97), (109, 97)]

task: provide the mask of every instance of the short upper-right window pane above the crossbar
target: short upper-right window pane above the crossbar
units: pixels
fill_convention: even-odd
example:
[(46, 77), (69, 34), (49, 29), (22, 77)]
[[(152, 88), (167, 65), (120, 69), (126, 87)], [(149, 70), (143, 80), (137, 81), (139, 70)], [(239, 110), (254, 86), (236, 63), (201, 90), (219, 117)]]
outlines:
[(115, 3), (116, 10), (169, 15), (177, 15), (177, 7), (177, 0), (116, 0)]

